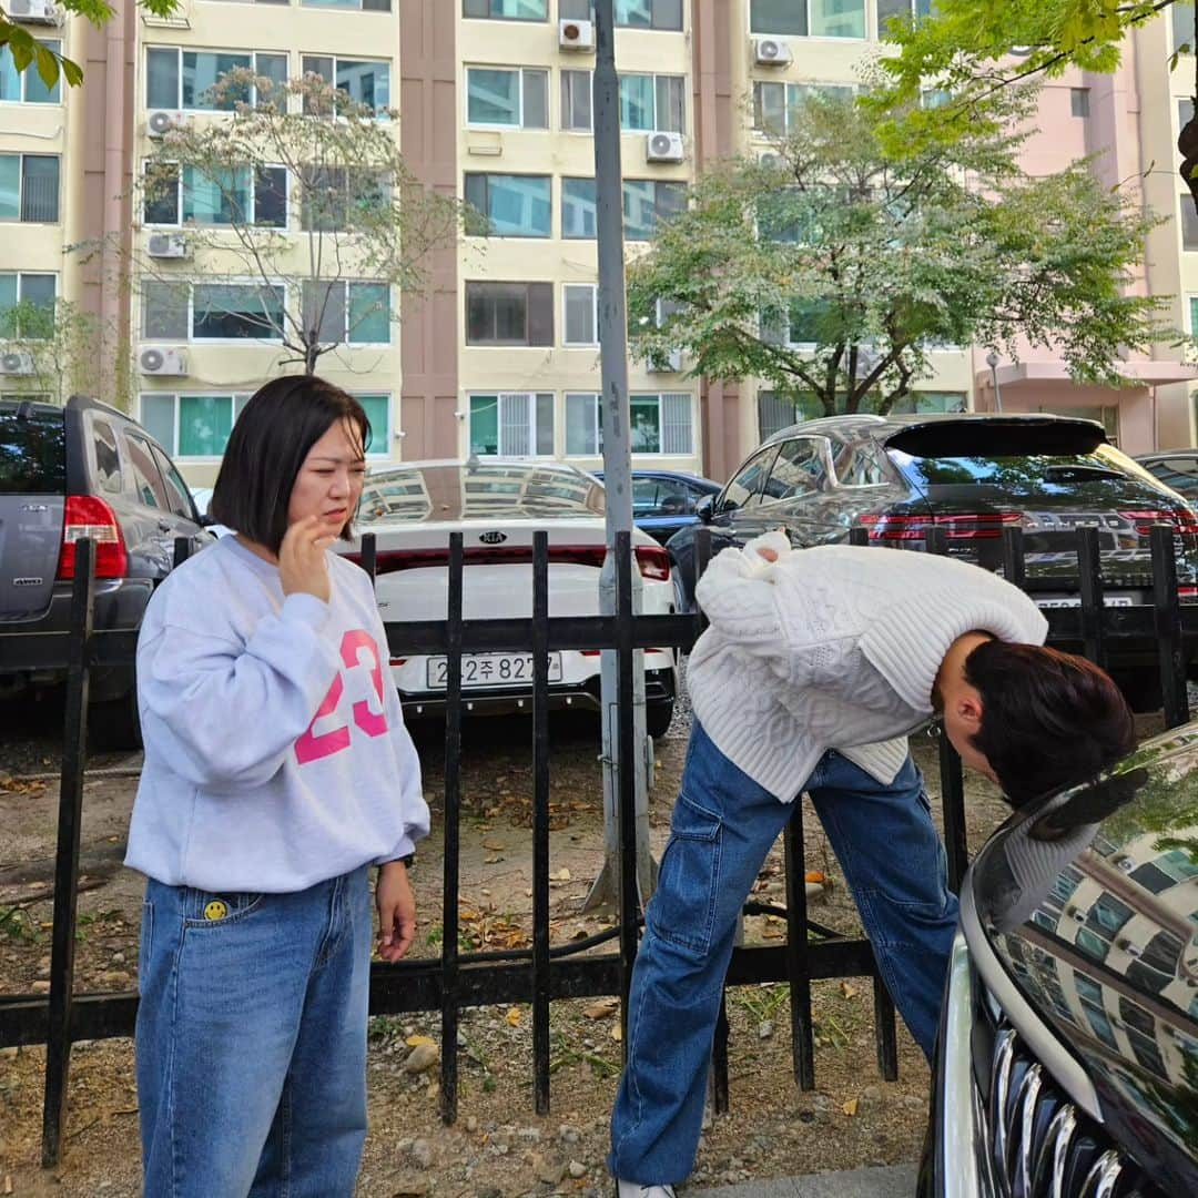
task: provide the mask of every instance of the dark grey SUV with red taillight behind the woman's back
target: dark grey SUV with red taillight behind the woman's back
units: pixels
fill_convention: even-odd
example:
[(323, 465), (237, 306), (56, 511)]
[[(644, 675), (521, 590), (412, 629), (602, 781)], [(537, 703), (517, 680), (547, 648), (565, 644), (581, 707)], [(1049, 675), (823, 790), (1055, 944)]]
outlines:
[[(175, 539), (212, 536), (167, 450), (134, 419), (80, 395), (65, 407), (0, 400), (0, 634), (71, 627), (75, 543), (96, 541), (95, 627), (135, 630), (170, 573)], [(60, 682), (61, 671), (12, 667), (0, 689)], [(93, 743), (140, 744), (132, 661), (92, 667)]]

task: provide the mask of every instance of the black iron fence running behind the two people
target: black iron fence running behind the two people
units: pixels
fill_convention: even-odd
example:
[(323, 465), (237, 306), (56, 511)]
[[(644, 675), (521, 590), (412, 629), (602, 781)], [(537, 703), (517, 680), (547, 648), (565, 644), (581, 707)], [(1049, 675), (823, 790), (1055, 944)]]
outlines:
[[(1004, 571), (1022, 586), (1023, 544), (1019, 530), (1004, 531)], [(855, 544), (867, 544), (865, 530), (854, 530)], [(1198, 606), (1178, 599), (1174, 531), (1152, 530), (1154, 603), (1108, 607), (1102, 598), (1097, 530), (1077, 533), (1079, 604), (1046, 612), (1049, 643), (1105, 664), (1108, 652), (1129, 647), (1155, 659), (1168, 726), (1188, 719), (1186, 660), (1198, 653)], [(943, 530), (930, 530), (926, 547), (946, 552)], [(187, 541), (176, 544), (176, 563)], [(709, 539), (700, 536), (697, 569), (702, 571)], [(364, 538), (362, 564), (374, 576), (374, 539)], [(441, 1114), (458, 1109), (458, 1024), (465, 1008), (531, 1004), (534, 1102), (539, 1114), (550, 1105), (550, 1004), (555, 999), (597, 996), (627, 997), (641, 922), (636, 883), (634, 793), (633, 662), (636, 649), (668, 646), (685, 652), (703, 629), (694, 616), (633, 615), (633, 555), (628, 533), (617, 544), (617, 611), (615, 616), (549, 617), (549, 538), (533, 545), (533, 615), (519, 619), (462, 619), (464, 546), (460, 533), (449, 540), (448, 611), (443, 621), (387, 625), (393, 657), (444, 654), (446, 692), (443, 939), (440, 958), (405, 960), (371, 967), (370, 1010), (374, 1015), (441, 1011)], [(93, 629), (95, 553), (89, 540), (78, 543), (71, 631), (68, 634), (0, 633), (7, 668), (67, 671), (65, 743), (59, 798), (54, 925), (48, 997), (0, 997), (0, 1047), (47, 1046), (42, 1158), (58, 1161), (67, 1099), (71, 1046), (79, 1040), (128, 1036), (133, 1033), (135, 993), (75, 993), (75, 902), (79, 881), (79, 830), (86, 769), (89, 674), (101, 662), (128, 661), (135, 633)], [(615, 928), (568, 945), (550, 944), (549, 919), (549, 654), (561, 649), (609, 649), (618, 664), (618, 755), (616, 791), (619, 804), (619, 919)], [(462, 657), (483, 652), (532, 652), (533, 752), (533, 936), (531, 949), (462, 952), (459, 949), (460, 749)], [(627, 768), (625, 768), (627, 767)], [(940, 738), (940, 786), (950, 882), (957, 889), (968, 863), (961, 762)], [(786, 920), (785, 943), (740, 946), (733, 952), (728, 985), (786, 982), (791, 998), (794, 1076), (804, 1089), (815, 1085), (811, 984), (827, 978), (870, 978), (875, 998), (878, 1067), (887, 1079), (897, 1076), (895, 1011), (877, 973), (866, 940), (851, 938), (810, 920), (806, 910), (801, 806), (795, 806), (785, 835), (786, 907), (750, 903), (749, 914), (772, 913)], [(604, 945), (615, 943), (615, 951)], [(627, 1004), (625, 1004), (627, 1008)], [(627, 1019), (627, 1010), (624, 1011)], [(627, 1027), (625, 1027), (627, 1030)], [(625, 1037), (627, 1042), (627, 1037)], [(714, 1052), (716, 1109), (727, 1107), (727, 1021), (721, 1018)]]

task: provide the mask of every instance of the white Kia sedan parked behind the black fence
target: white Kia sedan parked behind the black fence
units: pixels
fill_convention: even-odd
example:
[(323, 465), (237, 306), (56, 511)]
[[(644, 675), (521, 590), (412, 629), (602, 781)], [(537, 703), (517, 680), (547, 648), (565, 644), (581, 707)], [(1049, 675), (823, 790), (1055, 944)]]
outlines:
[[(549, 533), (550, 616), (599, 615), (599, 571), (605, 553), (604, 491), (573, 466), (488, 459), (418, 461), (373, 471), (356, 527), (376, 538), (379, 606), (383, 619), (444, 619), (448, 610), (449, 534), (465, 537), (465, 618), (532, 616), (533, 533)], [(643, 582), (643, 610), (674, 610), (670, 557), (648, 533), (633, 531)], [(353, 551), (350, 551), (353, 552)], [(600, 709), (599, 652), (550, 654), (553, 708)], [(393, 659), (392, 676), (410, 716), (443, 712), (447, 659)], [(645, 651), (651, 736), (661, 736), (678, 690), (672, 649)], [(462, 659), (467, 709), (531, 710), (531, 653), (474, 653)]]

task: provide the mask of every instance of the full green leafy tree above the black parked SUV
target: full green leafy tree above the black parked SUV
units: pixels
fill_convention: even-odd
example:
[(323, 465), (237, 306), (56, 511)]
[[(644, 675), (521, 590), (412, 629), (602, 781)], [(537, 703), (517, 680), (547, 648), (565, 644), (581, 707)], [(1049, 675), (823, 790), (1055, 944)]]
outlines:
[(1024, 174), (1004, 129), (1030, 103), (1004, 90), (960, 137), (894, 150), (851, 98), (799, 101), (773, 161), (701, 177), (630, 265), (634, 351), (829, 415), (889, 411), (934, 347), (1017, 357), (1021, 337), (1118, 385), (1121, 352), (1176, 339), (1160, 298), (1127, 294), (1152, 222), (1084, 162)]

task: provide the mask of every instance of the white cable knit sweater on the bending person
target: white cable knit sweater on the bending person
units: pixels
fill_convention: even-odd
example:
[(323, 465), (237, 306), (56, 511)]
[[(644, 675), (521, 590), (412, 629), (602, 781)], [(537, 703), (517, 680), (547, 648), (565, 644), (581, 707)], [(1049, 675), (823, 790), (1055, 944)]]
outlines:
[(696, 594), (710, 627), (690, 655), (695, 715), (783, 803), (828, 749), (891, 782), (958, 636), (1042, 645), (1048, 630), (1022, 591), (980, 567), (881, 547), (792, 550), (781, 532), (724, 550)]

